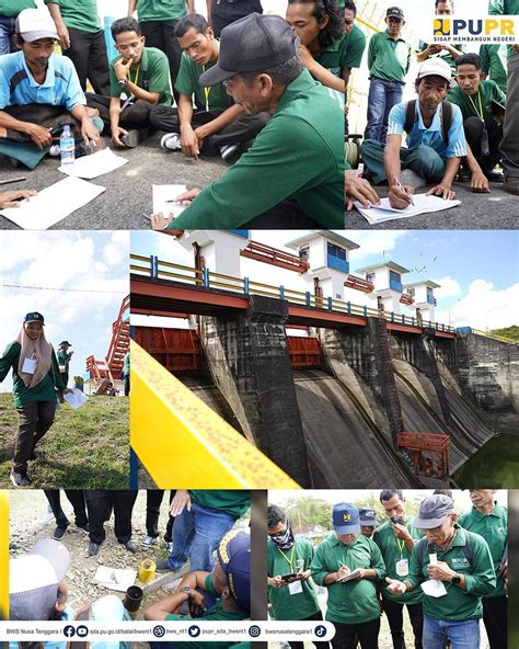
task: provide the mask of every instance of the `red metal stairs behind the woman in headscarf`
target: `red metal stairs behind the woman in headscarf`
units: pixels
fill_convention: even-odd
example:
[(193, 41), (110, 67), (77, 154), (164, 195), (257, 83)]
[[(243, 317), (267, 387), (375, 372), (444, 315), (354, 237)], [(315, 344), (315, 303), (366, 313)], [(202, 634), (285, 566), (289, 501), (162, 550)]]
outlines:
[(102, 361), (94, 355), (86, 358), (86, 372), (93, 385), (93, 394), (114, 394), (114, 384), (122, 377), (123, 361), (129, 349), (129, 305), (130, 297), (127, 295), (119, 308), (117, 319), (112, 323), (112, 339), (108, 351)]

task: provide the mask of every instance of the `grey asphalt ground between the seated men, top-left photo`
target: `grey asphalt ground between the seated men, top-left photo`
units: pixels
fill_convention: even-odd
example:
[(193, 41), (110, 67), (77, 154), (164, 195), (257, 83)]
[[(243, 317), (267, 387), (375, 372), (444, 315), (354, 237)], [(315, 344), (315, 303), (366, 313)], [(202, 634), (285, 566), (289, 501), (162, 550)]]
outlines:
[[(219, 157), (203, 157), (198, 161), (182, 151), (164, 151), (159, 147), (161, 134), (153, 134), (135, 149), (115, 149), (128, 160), (124, 167), (89, 182), (106, 187), (91, 203), (60, 220), (51, 230), (138, 230), (149, 229), (150, 221), (142, 214), (151, 214), (153, 184), (183, 184), (187, 189), (204, 187), (228, 169)], [(111, 140), (103, 138), (105, 146)], [(0, 156), (0, 180), (25, 177), (22, 183), (1, 185), (0, 192), (32, 189), (42, 191), (66, 178), (58, 171), (59, 158), (46, 156), (32, 171), (14, 168), (5, 156)], [(19, 227), (0, 215), (0, 230)]]

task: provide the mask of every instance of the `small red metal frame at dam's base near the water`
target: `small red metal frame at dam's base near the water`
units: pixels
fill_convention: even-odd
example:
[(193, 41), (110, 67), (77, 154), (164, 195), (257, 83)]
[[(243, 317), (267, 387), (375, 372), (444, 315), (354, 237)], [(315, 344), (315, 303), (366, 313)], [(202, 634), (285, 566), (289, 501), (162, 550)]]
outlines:
[[(439, 433), (399, 433), (396, 444), (413, 457), (416, 472), (446, 478), (449, 475), (449, 435)], [(436, 471), (434, 466), (436, 459)]]

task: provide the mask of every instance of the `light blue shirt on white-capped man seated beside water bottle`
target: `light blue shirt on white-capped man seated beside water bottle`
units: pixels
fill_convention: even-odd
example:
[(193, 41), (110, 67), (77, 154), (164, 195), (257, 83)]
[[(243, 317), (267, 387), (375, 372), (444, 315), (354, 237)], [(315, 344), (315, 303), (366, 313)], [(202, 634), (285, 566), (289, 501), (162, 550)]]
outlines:
[(34, 80), (23, 52), (0, 56), (0, 110), (5, 106), (50, 104), (71, 111), (86, 100), (72, 61), (59, 54), (48, 59), (45, 81)]

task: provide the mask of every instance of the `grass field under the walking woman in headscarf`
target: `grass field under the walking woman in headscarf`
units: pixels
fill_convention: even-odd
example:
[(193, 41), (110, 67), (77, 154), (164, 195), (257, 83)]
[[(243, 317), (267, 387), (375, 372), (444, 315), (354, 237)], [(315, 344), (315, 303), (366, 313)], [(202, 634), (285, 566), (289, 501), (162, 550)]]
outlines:
[[(0, 489), (11, 487), (18, 412), (0, 394)], [(62, 406), (36, 447), (28, 475), (35, 489), (127, 489), (128, 399), (90, 397), (79, 410)]]

